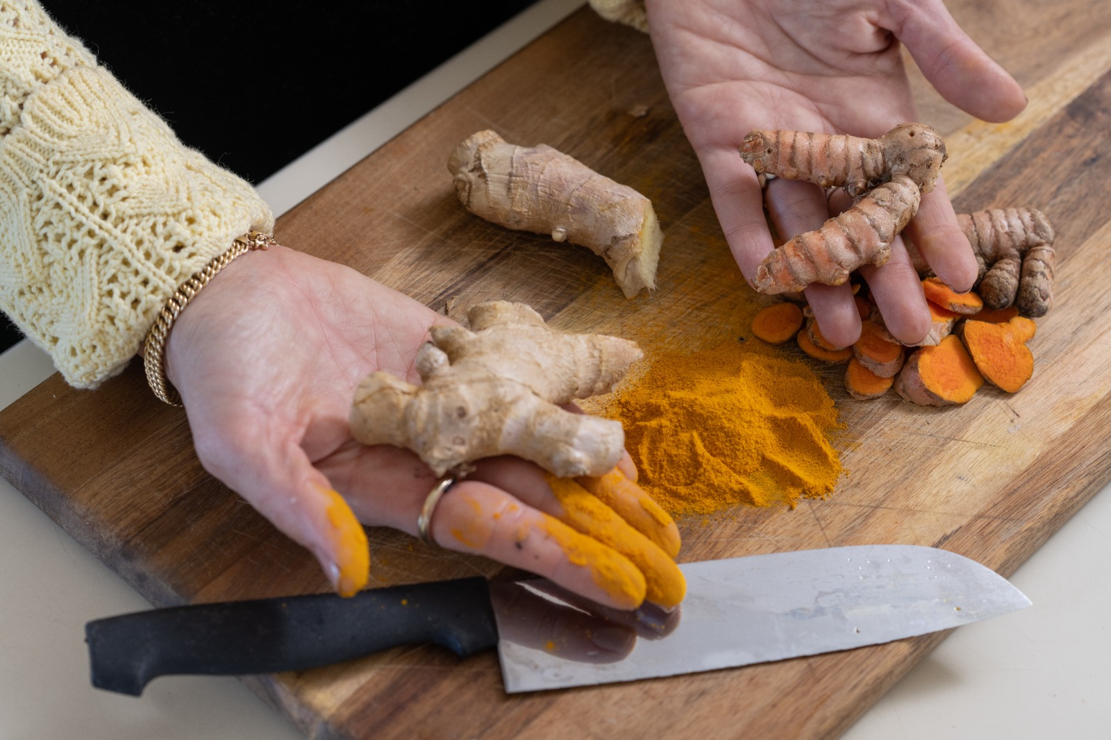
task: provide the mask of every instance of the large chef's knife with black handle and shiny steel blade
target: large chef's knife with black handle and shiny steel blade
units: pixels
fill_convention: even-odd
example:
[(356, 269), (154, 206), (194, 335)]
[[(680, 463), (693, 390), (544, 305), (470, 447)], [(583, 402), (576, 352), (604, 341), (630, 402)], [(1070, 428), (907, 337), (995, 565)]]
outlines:
[(506, 691), (514, 693), (847, 650), (1030, 606), (992, 570), (918, 546), (803, 550), (681, 568), (688, 591), (680, 612), (609, 613), (608, 621), (573, 598), (558, 599), (547, 582), (488, 584), (482, 578), (372, 589), (350, 599), (313, 594), (123, 614), (86, 627), (92, 683), (139, 696), (158, 676), (304, 670), (432, 642), (459, 656), (498, 646)]

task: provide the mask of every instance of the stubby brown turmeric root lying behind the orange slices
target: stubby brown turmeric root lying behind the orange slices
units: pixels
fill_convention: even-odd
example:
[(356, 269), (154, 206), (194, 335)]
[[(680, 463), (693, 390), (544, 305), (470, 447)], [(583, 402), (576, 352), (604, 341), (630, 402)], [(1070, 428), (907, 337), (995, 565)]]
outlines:
[[(1022, 316), (1045, 316), (1053, 304), (1053, 227), (1045, 214), (1033, 208), (993, 208), (959, 213), (960, 224), (980, 274), (975, 291), (991, 309), (1018, 307)], [(910, 242), (907, 244), (919, 274), (929, 266)]]

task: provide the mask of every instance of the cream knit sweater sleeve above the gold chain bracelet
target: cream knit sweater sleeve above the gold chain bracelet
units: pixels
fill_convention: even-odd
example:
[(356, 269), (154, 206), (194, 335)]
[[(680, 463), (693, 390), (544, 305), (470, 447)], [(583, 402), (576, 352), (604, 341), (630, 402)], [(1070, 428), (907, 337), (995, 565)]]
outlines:
[(0, 0), (0, 309), (93, 388), (178, 286), (273, 217), (36, 0)]

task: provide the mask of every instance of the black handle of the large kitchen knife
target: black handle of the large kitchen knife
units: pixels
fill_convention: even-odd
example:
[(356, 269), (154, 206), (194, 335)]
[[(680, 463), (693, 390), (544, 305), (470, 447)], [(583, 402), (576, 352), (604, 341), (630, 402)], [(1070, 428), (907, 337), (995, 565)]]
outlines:
[(456, 654), (492, 648), (498, 630), (484, 578), (170, 607), (86, 624), (92, 684), (138, 697), (167, 674), (298, 671), (433, 642)]

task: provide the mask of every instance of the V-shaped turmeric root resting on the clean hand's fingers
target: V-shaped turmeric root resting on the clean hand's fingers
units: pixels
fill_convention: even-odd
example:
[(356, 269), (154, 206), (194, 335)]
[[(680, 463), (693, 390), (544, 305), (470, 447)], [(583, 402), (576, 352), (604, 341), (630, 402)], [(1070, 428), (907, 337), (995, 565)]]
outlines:
[(755, 289), (782, 293), (812, 282), (840, 286), (860, 266), (887, 262), (921, 194), (933, 190), (945, 144), (921, 123), (903, 123), (879, 139), (753, 131), (744, 137), (741, 158), (758, 173), (841, 186), (857, 199), (821, 229), (794, 237), (760, 263)]

